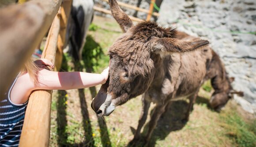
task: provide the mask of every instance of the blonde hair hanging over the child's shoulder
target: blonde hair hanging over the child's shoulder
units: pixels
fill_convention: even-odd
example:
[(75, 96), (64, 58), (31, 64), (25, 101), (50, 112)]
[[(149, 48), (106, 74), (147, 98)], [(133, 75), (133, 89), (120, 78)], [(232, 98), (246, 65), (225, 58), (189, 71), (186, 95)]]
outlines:
[(32, 59), (29, 59), (24, 64), (23, 68), (20, 71), (20, 75), (24, 75), (26, 73), (29, 74), (30, 79), (34, 82), (35, 85), (38, 85), (38, 71), (39, 67), (32, 61)]

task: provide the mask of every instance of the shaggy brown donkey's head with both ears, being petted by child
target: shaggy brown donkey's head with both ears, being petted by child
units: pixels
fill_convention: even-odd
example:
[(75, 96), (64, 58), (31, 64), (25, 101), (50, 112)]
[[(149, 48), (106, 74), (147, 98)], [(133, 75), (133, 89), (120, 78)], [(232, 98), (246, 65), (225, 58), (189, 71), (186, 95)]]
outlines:
[(133, 25), (115, 0), (109, 0), (109, 4), (124, 34), (109, 48), (109, 79), (91, 104), (99, 116), (109, 115), (116, 106), (144, 93), (157, 72), (160, 55), (196, 50), (209, 43), (176, 39), (175, 29), (154, 22)]

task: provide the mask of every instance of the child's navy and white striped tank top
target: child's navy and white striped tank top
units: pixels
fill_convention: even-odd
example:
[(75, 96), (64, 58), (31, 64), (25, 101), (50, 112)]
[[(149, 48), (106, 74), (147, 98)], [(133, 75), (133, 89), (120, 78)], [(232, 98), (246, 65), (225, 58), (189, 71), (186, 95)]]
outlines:
[(12, 83), (4, 99), (0, 101), (0, 147), (18, 147), (19, 138), (25, 117), (27, 102), (13, 104), (10, 99), (11, 89), (17, 78)]

